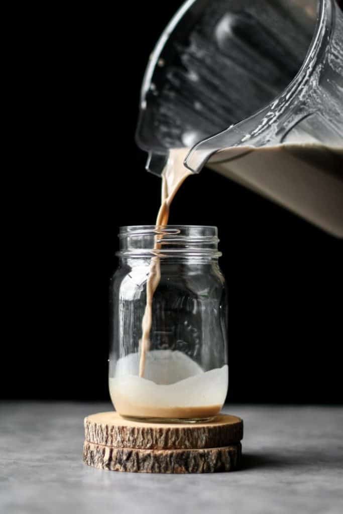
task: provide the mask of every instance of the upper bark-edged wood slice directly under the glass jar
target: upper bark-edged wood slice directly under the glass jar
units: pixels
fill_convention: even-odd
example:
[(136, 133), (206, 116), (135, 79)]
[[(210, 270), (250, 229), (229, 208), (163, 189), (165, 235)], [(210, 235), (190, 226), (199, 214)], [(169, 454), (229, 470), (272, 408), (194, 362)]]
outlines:
[(196, 424), (143, 423), (124, 419), (116, 412), (101, 412), (84, 420), (85, 440), (94, 445), (135, 449), (222, 448), (243, 438), (243, 421), (219, 414)]

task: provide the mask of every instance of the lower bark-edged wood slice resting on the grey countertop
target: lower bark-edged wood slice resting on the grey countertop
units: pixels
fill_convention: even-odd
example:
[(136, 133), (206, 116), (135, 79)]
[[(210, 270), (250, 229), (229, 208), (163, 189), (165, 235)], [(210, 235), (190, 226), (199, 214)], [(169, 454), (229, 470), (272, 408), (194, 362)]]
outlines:
[(240, 443), (223, 448), (194, 450), (143, 450), (114, 448), (84, 442), (83, 460), (88, 466), (135, 473), (214, 473), (239, 466)]

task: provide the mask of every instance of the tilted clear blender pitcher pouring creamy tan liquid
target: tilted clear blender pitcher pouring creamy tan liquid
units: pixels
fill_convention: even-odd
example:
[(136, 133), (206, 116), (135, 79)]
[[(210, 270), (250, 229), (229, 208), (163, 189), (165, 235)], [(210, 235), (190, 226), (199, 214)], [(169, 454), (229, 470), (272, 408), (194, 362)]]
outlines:
[(157, 175), (184, 147), (194, 173), (343, 237), (342, 3), (188, 0), (151, 54), (136, 139)]

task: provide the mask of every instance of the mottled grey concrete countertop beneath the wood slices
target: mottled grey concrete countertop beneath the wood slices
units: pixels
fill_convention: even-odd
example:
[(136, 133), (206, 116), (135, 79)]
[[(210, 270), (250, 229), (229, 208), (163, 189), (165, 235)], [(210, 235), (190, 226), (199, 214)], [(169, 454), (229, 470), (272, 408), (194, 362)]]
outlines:
[(82, 463), (83, 418), (104, 403), (2, 403), (0, 512), (343, 512), (343, 408), (232, 405), (244, 419), (239, 471), (159, 475)]

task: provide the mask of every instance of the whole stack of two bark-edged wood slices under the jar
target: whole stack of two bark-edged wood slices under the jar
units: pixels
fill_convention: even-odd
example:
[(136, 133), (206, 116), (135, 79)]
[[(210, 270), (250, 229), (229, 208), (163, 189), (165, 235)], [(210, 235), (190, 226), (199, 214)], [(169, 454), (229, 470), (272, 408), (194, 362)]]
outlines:
[(136, 473), (214, 473), (239, 466), (243, 421), (219, 414), (195, 424), (143, 423), (116, 412), (84, 420), (88, 466)]

